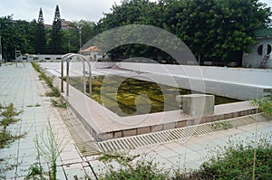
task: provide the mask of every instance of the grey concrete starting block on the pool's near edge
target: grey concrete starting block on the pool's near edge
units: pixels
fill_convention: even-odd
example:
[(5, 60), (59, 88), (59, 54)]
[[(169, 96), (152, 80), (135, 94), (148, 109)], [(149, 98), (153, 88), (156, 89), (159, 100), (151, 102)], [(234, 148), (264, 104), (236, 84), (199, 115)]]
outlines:
[(189, 94), (181, 95), (183, 113), (191, 117), (214, 114), (214, 95)]

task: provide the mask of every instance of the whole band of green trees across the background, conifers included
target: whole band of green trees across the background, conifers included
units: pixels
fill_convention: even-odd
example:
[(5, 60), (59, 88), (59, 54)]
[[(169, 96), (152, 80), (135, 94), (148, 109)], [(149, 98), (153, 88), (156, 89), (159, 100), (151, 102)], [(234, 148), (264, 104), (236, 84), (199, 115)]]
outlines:
[[(128, 24), (146, 24), (179, 37), (200, 62), (228, 62), (257, 43), (254, 32), (268, 26), (270, 15), (270, 7), (259, 0), (125, 0), (121, 5), (112, 5), (111, 12), (103, 14), (98, 23), (81, 20), (68, 24), (69, 28), (63, 30), (60, 9), (56, 5), (52, 28), (44, 28), (40, 9), (37, 22), (14, 21), (11, 15), (1, 17), (0, 33), (4, 56), (13, 59), (15, 49), (23, 53), (78, 52), (79, 28), (83, 45), (106, 30)], [(142, 44), (121, 45), (111, 52), (125, 58), (168, 56)]]

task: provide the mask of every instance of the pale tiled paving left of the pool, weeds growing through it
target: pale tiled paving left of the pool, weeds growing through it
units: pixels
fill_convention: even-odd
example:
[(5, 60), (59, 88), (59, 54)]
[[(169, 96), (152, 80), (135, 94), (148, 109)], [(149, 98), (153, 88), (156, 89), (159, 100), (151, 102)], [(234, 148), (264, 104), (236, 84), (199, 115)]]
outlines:
[[(6, 179), (23, 179), (27, 175), (28, 169), (34, 162), (44, 164), (44, 159), (37, 160), (38, 152), (34, 144), (34, 138), (41, 136), (44, 131), (44, 138), (47, 138), (46, 127), (49, 122), (53, 126), (53, 131), (59, 135), (67, 137), (69, 148), (65, 148), (63, 154), (57, 159), (58, 178), (65, 179), (65, 171), (62, 165), (71, 156), (71, 162), (82, 162), (81, 155), (74, 147), (73, 139), (69, 131), (65, 128), (62, 118), (58, 115), (57, 109), (51, 106), (50, 99), (44, 96), (44, 84), (39, 80), (37, 73), (30, 63), (24, 66), (15, 64), (2, 66), (0, 68), (0, 103), (8, 105), (14, 103), (15, 108), (23, 110), (20, 121), (9, 127), (13, 133), (27, 133), (26, 137), (20, 138), (11, 144), (10, 147), (0, 149), (0, 157), (7, 158), (10, 164), (15, 164), (15, 168), (5, 172)], [(75, 152), (71, 154), (72, 152)], [(74, 159), (77, 159), (76, 161)], [(45, 170), (47, 165), (44, 164)]]

